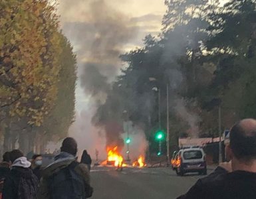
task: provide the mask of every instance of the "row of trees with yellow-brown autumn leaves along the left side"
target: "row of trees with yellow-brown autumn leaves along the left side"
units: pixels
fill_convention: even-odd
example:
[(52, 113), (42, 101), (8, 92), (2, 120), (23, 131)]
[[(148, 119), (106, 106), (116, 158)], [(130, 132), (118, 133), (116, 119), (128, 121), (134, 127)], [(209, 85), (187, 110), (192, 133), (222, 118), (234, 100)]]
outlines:
[(2, 151), (42, 152), (74, 117), (76, 56), (47, 0), (0, 2)]

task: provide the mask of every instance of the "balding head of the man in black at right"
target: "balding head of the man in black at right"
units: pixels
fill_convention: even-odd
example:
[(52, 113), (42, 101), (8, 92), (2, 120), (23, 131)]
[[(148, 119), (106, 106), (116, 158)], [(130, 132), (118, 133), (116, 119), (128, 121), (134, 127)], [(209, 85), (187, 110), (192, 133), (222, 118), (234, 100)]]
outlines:
[(227, 155), (232, 163), (256, 163), (256, 120), (243, 119), (235, 123), (229, 134)]

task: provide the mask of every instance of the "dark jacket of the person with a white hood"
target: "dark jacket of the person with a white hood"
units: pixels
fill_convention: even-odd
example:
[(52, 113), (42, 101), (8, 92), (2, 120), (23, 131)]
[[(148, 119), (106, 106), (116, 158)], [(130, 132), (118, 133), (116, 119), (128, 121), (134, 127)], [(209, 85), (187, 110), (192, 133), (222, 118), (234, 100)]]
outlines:
[[(20, 186), (19, 186), (20, 185)], [(13, 166), (3, 185), (3, 199), (17, 199), (21, 186), (25, 198), (37, 198), (39, 181), (30, 168)], [(24, 199), (25, 199), (24, 198)]]

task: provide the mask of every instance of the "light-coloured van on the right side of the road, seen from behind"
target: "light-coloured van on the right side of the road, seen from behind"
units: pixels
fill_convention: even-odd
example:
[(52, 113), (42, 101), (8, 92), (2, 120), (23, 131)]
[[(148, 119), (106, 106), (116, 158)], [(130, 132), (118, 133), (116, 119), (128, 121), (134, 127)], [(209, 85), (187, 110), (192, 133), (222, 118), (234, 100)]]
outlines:
[(180, 176), (183, 176), (187, 172), (207, 174), (205, 153), (203, 152), (203, 149), (199, 147), (180, 149), (172, 162), (172, 168), (176, 170), (176, 173)]

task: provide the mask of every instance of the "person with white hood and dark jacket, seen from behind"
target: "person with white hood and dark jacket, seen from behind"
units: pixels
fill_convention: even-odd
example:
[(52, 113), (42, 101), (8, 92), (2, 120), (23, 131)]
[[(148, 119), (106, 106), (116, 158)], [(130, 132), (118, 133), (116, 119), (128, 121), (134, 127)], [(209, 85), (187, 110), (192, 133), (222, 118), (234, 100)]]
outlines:
[(36, 199), (39, 180), (29, 168), (23, 153), (17, 149), (10, 153), (11, 170), (3, 184), (3, 199)]

